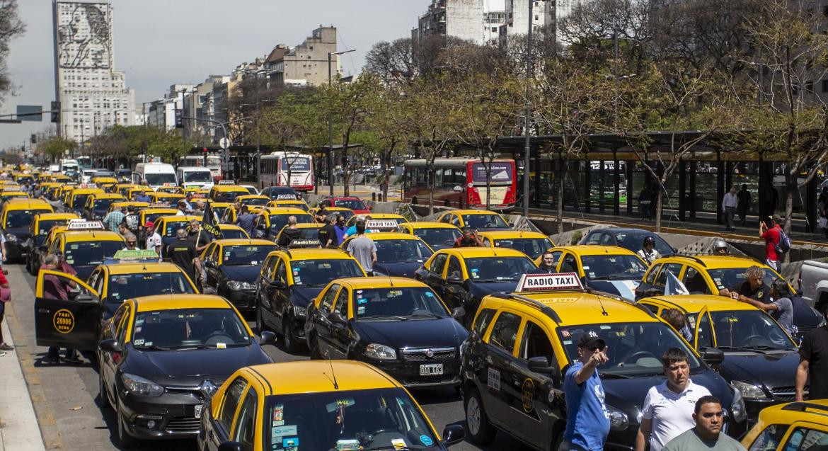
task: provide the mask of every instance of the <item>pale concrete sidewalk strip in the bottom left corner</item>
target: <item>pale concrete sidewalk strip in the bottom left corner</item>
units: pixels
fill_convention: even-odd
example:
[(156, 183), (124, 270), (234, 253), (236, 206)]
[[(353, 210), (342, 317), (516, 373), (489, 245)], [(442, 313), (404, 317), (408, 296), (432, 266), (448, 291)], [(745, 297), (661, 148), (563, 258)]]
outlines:
[[(9, 345), (14, 346), (5, 318), (2, 321), (2, 336)], [(45, 449), (26, 380), (17, 360), (17, 350), (7, 351), (5, 356), (0, 356), (0, 451)]]

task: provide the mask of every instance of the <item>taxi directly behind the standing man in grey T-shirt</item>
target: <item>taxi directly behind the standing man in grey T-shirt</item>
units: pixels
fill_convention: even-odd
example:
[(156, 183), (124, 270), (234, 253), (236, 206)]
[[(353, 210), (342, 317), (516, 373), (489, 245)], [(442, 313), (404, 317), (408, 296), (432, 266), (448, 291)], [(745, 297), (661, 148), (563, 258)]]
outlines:
[[(348, 250), (350, 242), (355, 238), (346, 238), (342, 242), (342, 249)], [(377, 246), (377, 262), (373, 264), (374, 275), (414, 277), (414, 272), (434, 254), (423, 240), (407, 233), (373, 233), (371, 240)]]

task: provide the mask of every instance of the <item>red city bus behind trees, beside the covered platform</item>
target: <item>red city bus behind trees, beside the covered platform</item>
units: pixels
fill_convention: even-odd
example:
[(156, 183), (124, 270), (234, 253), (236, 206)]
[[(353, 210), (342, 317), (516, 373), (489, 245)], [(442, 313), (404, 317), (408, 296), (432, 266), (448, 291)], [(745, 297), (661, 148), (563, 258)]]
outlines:
[[(486, 168), (491, 167), (487, 185)], [(428, 201), (428, 167), (426, 160), (406, 160), (405, 201)], [(486, 208), (486, 191), (489, 191), (489, 209), (508, 211), (517, 201), (517, 177), (514, 160), (495, 158), (481, 162), (479, 158), (436, 158), (434, 160), (434, 200), (440, 205), (464, 208)]]

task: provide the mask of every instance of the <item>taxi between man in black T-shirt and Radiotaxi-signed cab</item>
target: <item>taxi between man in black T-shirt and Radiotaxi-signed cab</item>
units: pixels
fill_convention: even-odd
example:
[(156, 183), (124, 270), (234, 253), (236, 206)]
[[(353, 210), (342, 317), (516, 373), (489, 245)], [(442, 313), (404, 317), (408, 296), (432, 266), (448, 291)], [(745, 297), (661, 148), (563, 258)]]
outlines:
[(268, 240), (214, 240), (200, 255), (205, 267), (204, 287), (228, 298), (239, 310), (253, 312), (256, 279), (273, 250), (276, 244)]

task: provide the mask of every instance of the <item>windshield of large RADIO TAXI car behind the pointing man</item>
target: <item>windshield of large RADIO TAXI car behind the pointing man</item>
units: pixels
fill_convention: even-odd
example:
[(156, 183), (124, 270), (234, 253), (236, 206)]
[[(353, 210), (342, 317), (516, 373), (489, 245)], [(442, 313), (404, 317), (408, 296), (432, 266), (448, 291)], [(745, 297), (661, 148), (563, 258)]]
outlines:
[[(600, 312), (599, 312), (600, 313)], [(702, 368), (696, 354), (663, 322), (615, 322), (561, 326), (557, 329), (570, 362), (578, 360), (578, 337), (597, 333), (607, 343), (609, 361), (599, 366), (603, 378), (662, 375), (662, 355), (671, 347), (687, 354), (690, 371)]]

